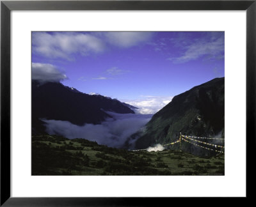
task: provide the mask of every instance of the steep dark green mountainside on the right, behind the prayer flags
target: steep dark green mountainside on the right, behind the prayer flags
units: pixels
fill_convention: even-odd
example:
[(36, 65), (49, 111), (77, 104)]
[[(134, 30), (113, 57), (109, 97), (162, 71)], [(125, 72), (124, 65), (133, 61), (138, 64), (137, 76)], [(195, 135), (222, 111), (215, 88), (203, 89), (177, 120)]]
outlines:
[[(205, 82), (173, 97), (172, 102), (154, 114), (146, 127), (136, 141), (138, 149), (176, 141), (180, 132), (199, 137), (223, 137), (224, 77)], [(195, 151), (194, 147), (189, 149), (189, 144), (182, 146), (186, 148), (183, 150)], [(173, 145), (173, 148), (179, 148), (179, 145)]]

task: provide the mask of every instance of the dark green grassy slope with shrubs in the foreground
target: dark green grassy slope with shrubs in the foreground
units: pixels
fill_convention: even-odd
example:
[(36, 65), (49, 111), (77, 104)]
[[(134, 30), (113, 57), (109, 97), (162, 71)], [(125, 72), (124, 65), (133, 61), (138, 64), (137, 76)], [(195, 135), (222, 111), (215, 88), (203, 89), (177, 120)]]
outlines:
[(108, 148), (86, 139), (32, 137), (33, 175), (224, 174), (224, 155), (202, 158), (175, 150), (158, 152)]

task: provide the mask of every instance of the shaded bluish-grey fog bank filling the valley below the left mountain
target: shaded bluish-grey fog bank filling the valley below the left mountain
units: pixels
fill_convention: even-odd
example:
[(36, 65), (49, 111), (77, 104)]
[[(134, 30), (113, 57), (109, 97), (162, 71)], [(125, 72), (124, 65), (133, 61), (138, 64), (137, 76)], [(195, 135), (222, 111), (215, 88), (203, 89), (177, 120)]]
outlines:
[(85, 124), (80, 127), (69, 121), (47, 120), (45, 122), (48, 134), (59, 134), (68, 139), (84, 138), (96, 141), (114, 148), (122, 148), (127, 138), (140, 130), (152, 117), (152, 114), (116, 114), (108, 112), (113, 119), (102, 122), (101, 125)]

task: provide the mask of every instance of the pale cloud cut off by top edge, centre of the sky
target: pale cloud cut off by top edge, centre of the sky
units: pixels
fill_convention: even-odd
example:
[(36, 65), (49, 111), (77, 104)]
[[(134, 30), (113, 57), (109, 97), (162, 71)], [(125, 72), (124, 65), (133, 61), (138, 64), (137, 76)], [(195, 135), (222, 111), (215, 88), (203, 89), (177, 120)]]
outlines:
[(152, 38), (150, 32), (108, 32), (104, 33), (107, 41), (118, 47), (132, 47)]

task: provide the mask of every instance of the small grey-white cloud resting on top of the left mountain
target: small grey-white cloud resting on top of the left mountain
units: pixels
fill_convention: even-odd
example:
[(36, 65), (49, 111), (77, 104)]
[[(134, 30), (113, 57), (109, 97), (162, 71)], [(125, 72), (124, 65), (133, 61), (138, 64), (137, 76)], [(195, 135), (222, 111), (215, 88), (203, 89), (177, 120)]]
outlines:
[(32, 80), (41, 82), (60, 82), (67, 79), (56, 66), (45, 63), (32, 63)]

